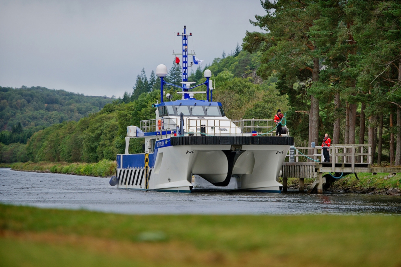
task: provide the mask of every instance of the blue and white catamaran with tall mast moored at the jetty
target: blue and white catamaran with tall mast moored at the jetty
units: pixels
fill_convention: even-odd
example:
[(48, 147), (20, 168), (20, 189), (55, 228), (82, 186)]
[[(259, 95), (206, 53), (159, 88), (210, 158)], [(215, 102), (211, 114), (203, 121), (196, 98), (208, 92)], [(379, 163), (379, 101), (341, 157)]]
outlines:
[[(161, 86), (160, 103), (152, 105), (156, 118), (127, 127), (125, 153), (117, 155), (116, 176), (110, 185), (169, 192), (201, 187), (280, 193), (282, 185), (277, 180), (294, 138), (286, 134), (286, 127), (282, 137), (273, 136), (273, 120), (227, 118), (222, 104), (213, 101), (210, 70), (204, 72), (204, 83), (191, 87), (188, 37), (192, 33), (188, 35), (184, 26), (177, 35), (182, 36), (182, 86), (166, 82), (167, 67), (157, 66)], [(171, 94), (164, 96), (166, 85), (180, 88), (181, 99), (172, 101)], [(205, 92), (193, 90), (202, 85)], [(206, 100), (195, 99), (195, 94), (206, 94)], [(145, 139), (144, 153), (128, 153), (132, 138)]]

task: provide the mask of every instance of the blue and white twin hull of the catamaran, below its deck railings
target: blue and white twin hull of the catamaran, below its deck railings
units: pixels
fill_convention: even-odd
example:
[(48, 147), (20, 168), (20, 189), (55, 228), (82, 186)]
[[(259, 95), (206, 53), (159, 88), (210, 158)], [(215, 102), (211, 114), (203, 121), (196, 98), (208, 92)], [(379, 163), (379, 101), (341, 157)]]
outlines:
[(117, 186), (127, 189), (190, 192), (192, 175), (226, 187), (277, 192), (282, 163), (293, 137), (170, 137), (153, 153), (117, 155)]

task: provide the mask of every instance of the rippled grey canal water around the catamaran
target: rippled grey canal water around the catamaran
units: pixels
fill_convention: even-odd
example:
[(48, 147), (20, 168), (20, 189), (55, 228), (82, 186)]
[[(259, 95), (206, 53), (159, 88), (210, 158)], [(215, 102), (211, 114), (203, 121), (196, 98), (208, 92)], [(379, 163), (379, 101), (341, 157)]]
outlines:
[(401, 215), (401, 197), (362, 194), (195, 192), (116, 189), (109, 178), (0, 168), (0, 202), (125, 214)]

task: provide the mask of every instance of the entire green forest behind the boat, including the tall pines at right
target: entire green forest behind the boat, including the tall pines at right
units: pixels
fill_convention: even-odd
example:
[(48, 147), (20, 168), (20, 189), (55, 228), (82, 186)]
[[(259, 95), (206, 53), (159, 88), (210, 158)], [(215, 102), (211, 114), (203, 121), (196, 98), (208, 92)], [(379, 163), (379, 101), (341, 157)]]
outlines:
[[(287, 113), (297, 146), (319, 144), (327, 132), (334, 143), (371, 144), (379, 164), (401, 165), (401, 4), (261, 4), (267, 14), (250, 21), (261, 32), (246, 32), (243, 50), (237, 45), (229, 55), (223, 51), (210, 66), (191, 70), (188, 80), (205, 81), (203, 71), (209, 68), (213, 100), (223, 104), (231, 119), (272, 118), (280, 108)], [(180, 65), (174, 61), (166, 80), (181, 81)], [(143, 69), (123, 98), (78, 122), (35, 133), (19, 151), (2, 153), (1, 160), (113, 160), (124, 151), (126, 126), (154, 118), (151, 104), (160, 99), (158, 88), (160, 79), (153, 71), (148, 79)], [(141, 148), (137, 140), (130, 152)]]

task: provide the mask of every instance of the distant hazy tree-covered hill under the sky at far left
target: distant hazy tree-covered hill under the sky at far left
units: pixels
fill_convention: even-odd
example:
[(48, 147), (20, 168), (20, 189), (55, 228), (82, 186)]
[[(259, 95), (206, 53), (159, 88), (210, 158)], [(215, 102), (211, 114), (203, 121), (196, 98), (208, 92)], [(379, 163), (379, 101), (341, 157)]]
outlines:
[(33, 132), (63, 121), (78, 121), (112, 101), (105, 96), (85, 96), (40, 86), (0, 86), (0, 142), (26, 143)]

